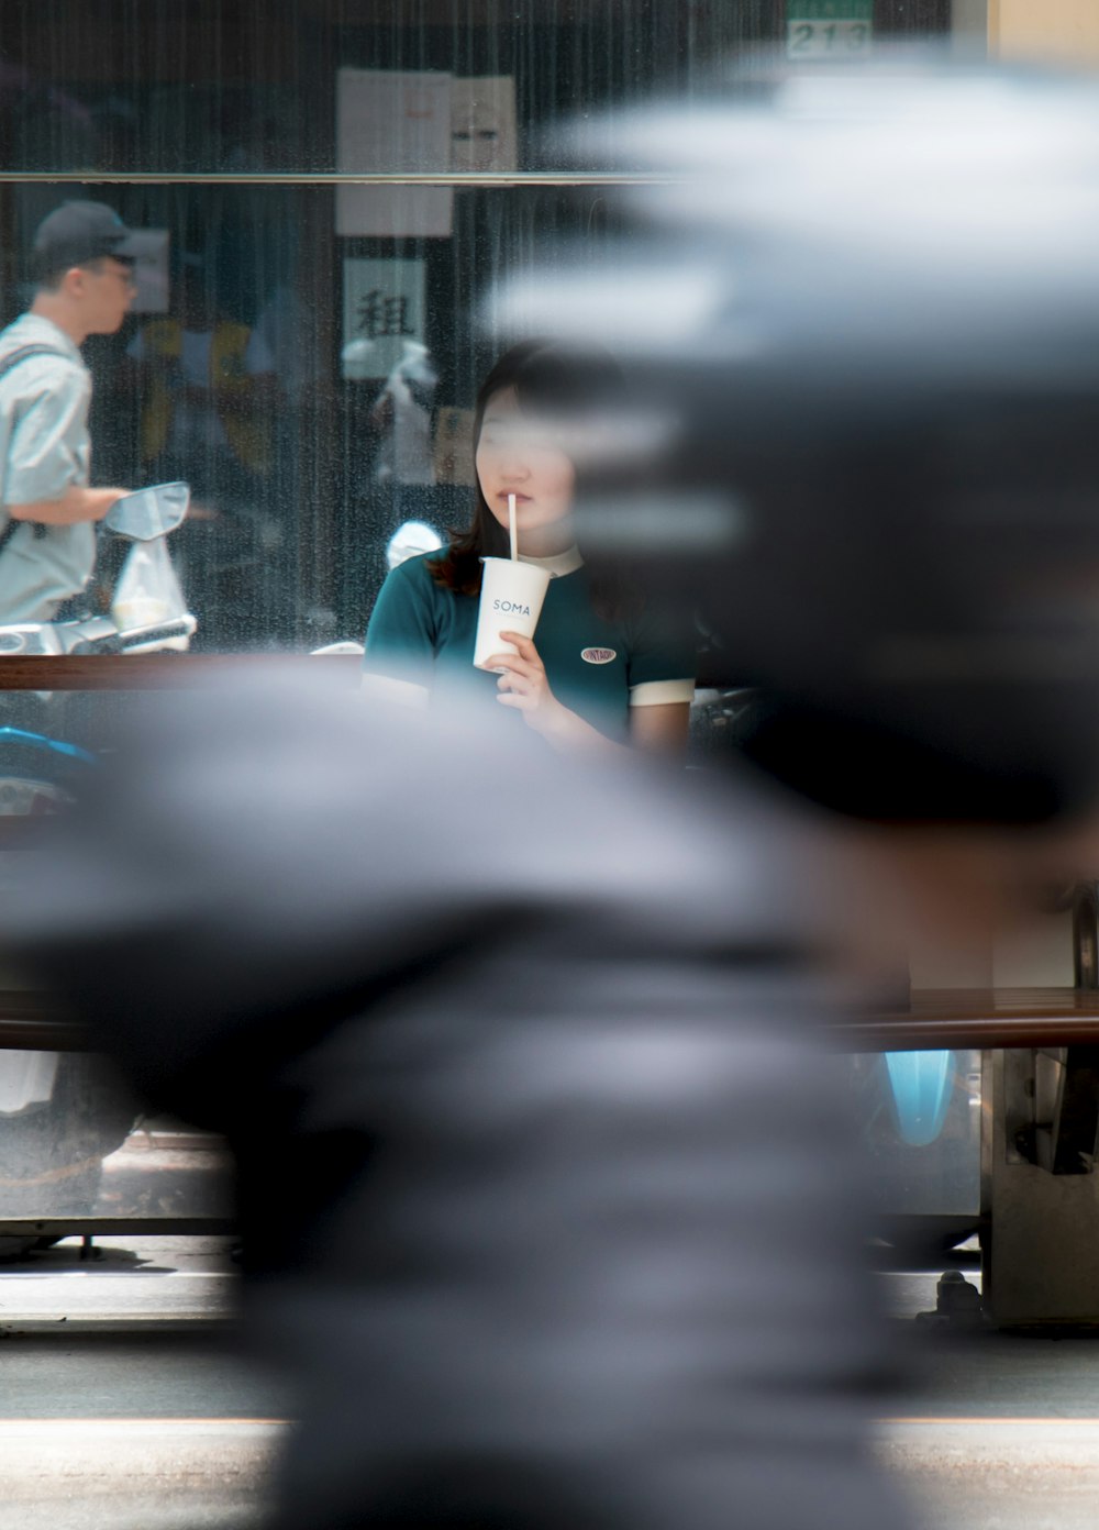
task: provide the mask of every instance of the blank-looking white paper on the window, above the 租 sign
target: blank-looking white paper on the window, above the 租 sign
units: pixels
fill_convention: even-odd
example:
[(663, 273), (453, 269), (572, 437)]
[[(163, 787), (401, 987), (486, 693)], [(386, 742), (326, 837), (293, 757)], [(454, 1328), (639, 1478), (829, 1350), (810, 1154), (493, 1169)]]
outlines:
[[(335, 167), (351, 174), (450, 170), (447, 73), (341, 69), (337, 75)], [(337, 187), (337, 234), (447, 239), (448, 187)]]

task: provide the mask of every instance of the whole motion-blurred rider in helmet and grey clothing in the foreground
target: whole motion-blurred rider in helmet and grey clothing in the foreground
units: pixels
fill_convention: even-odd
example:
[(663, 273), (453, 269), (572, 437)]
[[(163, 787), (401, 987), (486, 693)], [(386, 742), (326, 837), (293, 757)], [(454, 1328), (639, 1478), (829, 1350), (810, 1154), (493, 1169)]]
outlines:
[(507, 294), (632, 366), (565, 442), (585, 546), (765, 696), (726, 782), (173, 699), (26, 889), (24, 952), (236, 1141), (280, 1527), (903, 1522), (814, 1037), (906, 900), (990, 901), (1094, 799), (1097, 136), (1082, 86), (756, 80), (628, 133), (684, 179), (602, 286)]

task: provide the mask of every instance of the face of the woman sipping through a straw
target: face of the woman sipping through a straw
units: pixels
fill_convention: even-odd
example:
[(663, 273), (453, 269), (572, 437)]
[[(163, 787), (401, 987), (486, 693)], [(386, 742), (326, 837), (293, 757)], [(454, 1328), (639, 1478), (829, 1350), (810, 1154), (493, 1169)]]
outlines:
[(550, 425), (522, 413), (514, 389), (488, 399), (476, 467), (485, 503), (502, 526), (508, 523), (508, 494), (516, 496), (520, 545), (523, 536), (556, 526), (572, 511), (572, 464)]

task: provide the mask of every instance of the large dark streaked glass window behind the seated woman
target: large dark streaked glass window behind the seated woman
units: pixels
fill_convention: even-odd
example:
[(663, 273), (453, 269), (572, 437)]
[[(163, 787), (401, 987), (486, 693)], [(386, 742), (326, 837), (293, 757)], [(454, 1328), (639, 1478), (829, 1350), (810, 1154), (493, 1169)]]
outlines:
[[(563, 129), (745, 49), (947, 29), (947, 0), (20, 0), (0, 317), (66, 197), (142, 230), (133, 311), (84, 347), (93, 482), (191, 483), (196, 649), (358, 638), (389, 534), (467, 513), (482, 295), (611, 225)], [(104, 552), (93, 601), (110, 578)]]

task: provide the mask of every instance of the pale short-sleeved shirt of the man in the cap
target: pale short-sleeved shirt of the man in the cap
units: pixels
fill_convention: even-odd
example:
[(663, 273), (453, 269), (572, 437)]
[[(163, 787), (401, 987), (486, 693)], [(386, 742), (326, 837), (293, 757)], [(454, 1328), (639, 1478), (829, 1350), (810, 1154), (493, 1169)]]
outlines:
[[(8, 505), (60, 499), (90, 473), (87, 409), (92, 378), (69, 335), (23, 314), (0, 332), (0, 363), (23, 346), (49, 346), (0, 378), (0, 532)], [(0, 551), (0, 623), (49, 621), (95, 568), (95, 529), (21, 523)]]

